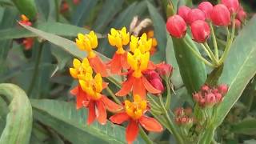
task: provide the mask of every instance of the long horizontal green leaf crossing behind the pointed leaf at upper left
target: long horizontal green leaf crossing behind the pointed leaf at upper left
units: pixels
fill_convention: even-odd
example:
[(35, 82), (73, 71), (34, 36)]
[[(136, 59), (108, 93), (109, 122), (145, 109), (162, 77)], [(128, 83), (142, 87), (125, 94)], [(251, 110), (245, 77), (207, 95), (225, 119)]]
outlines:
[[(59, 22), (45, 22), (36, 26), (38, 30), (46, 31), (50, 34), (57, 34), (61, 36), (71, 36), (76, 37), (78, 33), (88, 34), (89, 30), (85, 28), (72, 26), (69, 24), (59, 23)], [(20, 27), (10, 28), (6, 30), (0, 30), (0, 40), (3, 39), (12, 39), (12, 38), (26, 38), (26, 37), (35, 37), (37, 34), (33, 34), (26, 29)], [(101, 34), (97, 34), (98, 38), (102, 38)]]

